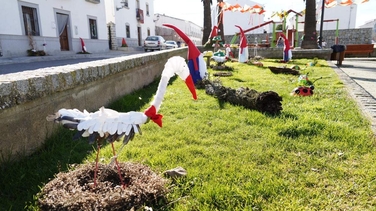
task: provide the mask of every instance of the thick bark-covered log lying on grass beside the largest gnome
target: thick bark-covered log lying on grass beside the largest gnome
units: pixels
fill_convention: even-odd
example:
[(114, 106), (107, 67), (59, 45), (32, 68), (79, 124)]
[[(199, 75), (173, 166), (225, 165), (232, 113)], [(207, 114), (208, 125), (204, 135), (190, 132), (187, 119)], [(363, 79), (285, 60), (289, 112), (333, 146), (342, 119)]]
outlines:
[(248, 109), (258, 110), (259, 112), (277, 113), (282, 110), (280, 102), (282, 97), (276, 92), (257, 92), (248, 87), (240, 87), (235, 90), (222, 86), (219, 80), (205, 81), (205, 83), (205, 93), (220, 100), (243, 105)]

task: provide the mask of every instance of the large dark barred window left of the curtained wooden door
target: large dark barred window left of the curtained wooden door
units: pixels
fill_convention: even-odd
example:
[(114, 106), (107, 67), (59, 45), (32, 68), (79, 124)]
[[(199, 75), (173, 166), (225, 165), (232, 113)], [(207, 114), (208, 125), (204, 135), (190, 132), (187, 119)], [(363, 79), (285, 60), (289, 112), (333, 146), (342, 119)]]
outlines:
[(27, 6), (21, 6), (22, 15), (24, 19), (25, 34), (32, 36), (39, 36), (38, 16), (36, 14), (36, 8)]

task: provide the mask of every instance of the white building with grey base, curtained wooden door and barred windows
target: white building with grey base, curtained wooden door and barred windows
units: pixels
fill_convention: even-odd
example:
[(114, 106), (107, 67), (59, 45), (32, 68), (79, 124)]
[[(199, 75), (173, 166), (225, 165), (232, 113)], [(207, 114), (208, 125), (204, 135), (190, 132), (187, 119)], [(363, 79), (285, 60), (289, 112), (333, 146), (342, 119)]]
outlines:
[[(0, 3), (0, 43), (3, 56), (27, 56), (31, 49), (47, 54), (109, 51), (103, 0), (6, 0)], [(47, 44), (43, 46), (43, 44)]]

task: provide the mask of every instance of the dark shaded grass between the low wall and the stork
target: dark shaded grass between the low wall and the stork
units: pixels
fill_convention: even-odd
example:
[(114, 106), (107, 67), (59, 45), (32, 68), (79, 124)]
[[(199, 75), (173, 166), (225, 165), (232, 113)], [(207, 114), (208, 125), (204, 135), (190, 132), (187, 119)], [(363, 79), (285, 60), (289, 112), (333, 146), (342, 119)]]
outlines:
[[(119, 112), (138, 111), (155, 94), (160, 78), (142, 89), (124, 96), (108, 106)], [(176, 80), (174, 77), (170, 84)], [(139, 99), (142, 98), (142, 100)], [(70, 164), (83, 163), (94, 145), (88, 145), (82, 138), (72, 141), (76, 131), (59, 127), (56, 133), (46, 139), (44, 146), (28, 157), (0, 164), (0, 210), (22, 210), (36, 208), (36, 194), (41, 187), (59, 172), (67, 171)]]

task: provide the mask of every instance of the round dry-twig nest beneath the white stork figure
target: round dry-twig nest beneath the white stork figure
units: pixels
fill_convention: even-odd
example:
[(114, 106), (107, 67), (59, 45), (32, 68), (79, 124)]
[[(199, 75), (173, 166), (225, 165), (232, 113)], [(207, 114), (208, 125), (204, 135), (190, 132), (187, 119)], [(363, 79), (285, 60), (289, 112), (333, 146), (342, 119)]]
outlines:
[[(41, 210), (129, 210), (132, 207), (153, 205), (165, 199), (168, 180), (139, 163), (120, 162), (120, 172), (115, 164), (105, 174), (105, 164), (98, 163), (97, 185), (94, 181), (95, 162), (79, 165), (76, 170), (58, 173), (47, 183), (39, 196)], [(102, 179), (102, 181), (100, 181)]]

